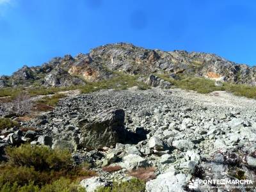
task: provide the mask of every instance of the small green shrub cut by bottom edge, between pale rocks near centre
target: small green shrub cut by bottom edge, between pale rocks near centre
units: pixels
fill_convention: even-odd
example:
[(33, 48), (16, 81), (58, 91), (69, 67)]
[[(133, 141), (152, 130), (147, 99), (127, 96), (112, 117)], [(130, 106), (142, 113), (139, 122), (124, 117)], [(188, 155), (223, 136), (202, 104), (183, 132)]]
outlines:
[(113, 182), (113, 186), (99, 188), (97, 192), (143, 192), (145, 191), (145, 182), (140, 179), (131, 179), (125, 182)]

